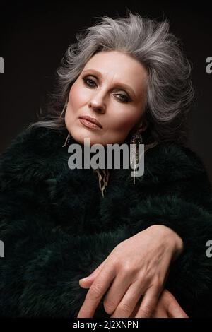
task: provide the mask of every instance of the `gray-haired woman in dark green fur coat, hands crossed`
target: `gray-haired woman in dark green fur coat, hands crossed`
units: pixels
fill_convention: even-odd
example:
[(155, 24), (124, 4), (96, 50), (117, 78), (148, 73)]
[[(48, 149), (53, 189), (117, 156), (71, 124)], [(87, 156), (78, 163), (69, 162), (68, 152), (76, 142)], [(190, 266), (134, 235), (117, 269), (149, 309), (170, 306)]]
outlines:
[[(1, 316), (210, 316), (211, 187), (183, 146), (191, 69), (168, 28), (129, 13), (78, 35), (54, 107), (1, 156)], [(143, 142), (143, 176), (71, 170), (84, 138)]]

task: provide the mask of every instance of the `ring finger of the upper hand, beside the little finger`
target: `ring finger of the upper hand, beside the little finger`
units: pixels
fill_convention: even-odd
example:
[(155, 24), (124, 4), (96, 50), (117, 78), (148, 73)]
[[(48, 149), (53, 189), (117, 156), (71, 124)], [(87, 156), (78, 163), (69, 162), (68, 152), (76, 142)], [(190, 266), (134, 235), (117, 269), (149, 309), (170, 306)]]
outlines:
[(112, 314), (112, 318), (129, 318), (131, 313), (134, 312), (136, 304), (139, 302), (143, 293), (140, 282), (135, 282), (131, 284), (129, 289), (126, 291), (126, 294), (119, 302), (117, 309), (115, 309)]

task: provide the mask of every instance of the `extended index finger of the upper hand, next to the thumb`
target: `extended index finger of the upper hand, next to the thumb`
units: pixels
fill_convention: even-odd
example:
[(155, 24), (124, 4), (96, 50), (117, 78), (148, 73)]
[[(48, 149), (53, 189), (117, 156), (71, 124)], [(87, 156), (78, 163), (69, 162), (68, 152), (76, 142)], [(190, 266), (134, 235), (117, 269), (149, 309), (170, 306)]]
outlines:
[(110, 283), (114, 279), (115, 271), (111, 266), (102, 268), (102, 271), (95, 278), (93, 284), (87, 292), (86, 299), (83, 302), (83, 305), (78, 313), (78, 318), (91, 318), (95, 313), (95, 309), (98, 307), (98, 304), (102, 296), (110, 287)]

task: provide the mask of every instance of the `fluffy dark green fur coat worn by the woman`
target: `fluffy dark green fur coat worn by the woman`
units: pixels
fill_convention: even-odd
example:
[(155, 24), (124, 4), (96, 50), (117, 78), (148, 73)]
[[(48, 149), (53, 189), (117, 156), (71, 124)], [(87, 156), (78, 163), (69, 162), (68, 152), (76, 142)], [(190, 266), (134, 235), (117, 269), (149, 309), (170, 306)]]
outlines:
[[(211, 186), (200, 158), (160, 143), (146, 152), (135, 185), (131, 170), (111, 170), (103, 198), (92, 169), (69, 169), (66, 135), (24, 130), (1, 155), (0, 316), (76, 316), (88, 291), (78, 280), (154, 224), (184, 242), (167, 289), (189, 316), (212, 316)], [(108, 317), (102, 302), (98, 316)]]

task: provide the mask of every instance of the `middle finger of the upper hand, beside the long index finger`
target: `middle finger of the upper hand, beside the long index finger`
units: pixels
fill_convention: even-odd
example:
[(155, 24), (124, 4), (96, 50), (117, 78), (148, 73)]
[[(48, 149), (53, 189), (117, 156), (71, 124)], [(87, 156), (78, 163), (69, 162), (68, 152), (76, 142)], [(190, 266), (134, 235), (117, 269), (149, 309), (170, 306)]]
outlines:
[(112, 314), (114, 310), (117, 309), (119, 302), (121, 302), (122, 297), (124, 297), (124, 294), (127, 292), (130, 285), (130, 277), (127, 278), (124, 273), (119, 273), (117, 275), (104, 299), (104, 308), (107, 314)]

